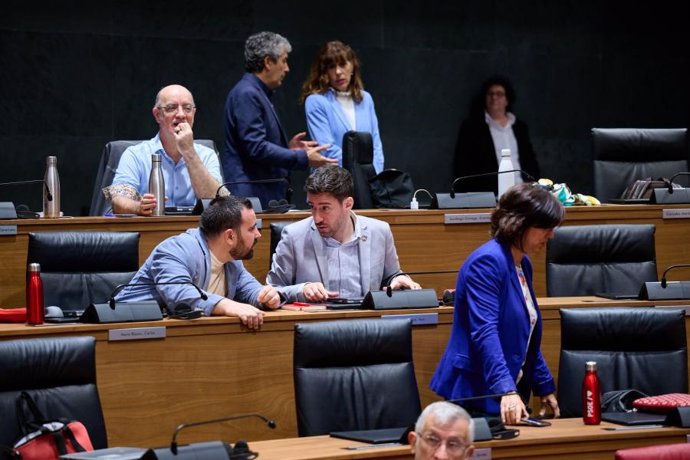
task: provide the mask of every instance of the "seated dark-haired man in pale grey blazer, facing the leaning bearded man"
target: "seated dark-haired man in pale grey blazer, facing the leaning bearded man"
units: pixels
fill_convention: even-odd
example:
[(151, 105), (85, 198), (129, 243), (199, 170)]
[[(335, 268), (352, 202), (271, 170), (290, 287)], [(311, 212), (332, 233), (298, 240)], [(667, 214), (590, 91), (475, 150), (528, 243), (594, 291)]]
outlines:
[(283, 230), (266, 281), (289, 301), (361, 298), (390, 283), (420, 289), (400, 270), (390, 226), (352, 212), (352, 175), (339, 166), (315, 170), (304, 184), (312, 217)]

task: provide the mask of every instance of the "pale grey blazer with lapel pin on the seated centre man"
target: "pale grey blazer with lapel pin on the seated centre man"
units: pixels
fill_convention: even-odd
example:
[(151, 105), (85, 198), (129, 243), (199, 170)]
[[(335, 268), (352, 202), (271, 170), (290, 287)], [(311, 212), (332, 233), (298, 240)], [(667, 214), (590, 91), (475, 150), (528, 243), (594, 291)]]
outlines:
[[(364, 295), (381, 289), (383, 281), (400, 271), (390, 226), (383, 221), (357, 216), (360, 228), (359, 271)], [(266, 282), (276, 286), (288, 301), (304, 301), (306, 282), (320, 282), (328, 288), (326, 245), (314, 219), (308, 217), (283, 229)]]

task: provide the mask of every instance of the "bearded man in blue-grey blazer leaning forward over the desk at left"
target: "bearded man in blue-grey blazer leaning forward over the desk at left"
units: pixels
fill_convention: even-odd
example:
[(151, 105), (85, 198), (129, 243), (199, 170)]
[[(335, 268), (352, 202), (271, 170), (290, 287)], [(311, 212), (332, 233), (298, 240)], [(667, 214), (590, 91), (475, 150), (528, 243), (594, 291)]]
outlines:
[(237, 316), (257, 329), (263, 310), (276, 309), (281, 301), (272, 286), (262, 286), (242, 264), (252, 258), (260, 237), (251, 201), (216, 198), (201, 214), (199, 228), (156, 246), (115, 300), (156, 300), (170, 311), (186, 304), (206, 316)]

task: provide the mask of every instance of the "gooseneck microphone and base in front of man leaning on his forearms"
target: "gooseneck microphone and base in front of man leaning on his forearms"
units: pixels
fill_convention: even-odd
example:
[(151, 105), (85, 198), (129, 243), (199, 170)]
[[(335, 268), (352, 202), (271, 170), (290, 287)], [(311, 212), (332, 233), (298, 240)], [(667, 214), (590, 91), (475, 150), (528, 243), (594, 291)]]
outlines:
[[(126, 323), (131, 321), (159, 321), (163, 319), (163, 312), (158, 302), (155, 300), (143, 300), (138, 302), (115, 302), (115, 296), (127, 286), (158, 286), (168, 284), (189, 284), (199, 293), (199, 297), (207, 300), (208, 296), (191, 281), (163, 281), (157, 283), (127, 283), (120, 284), (113, 289), (108, 303), (91, 303), (81, 315), (82, 323), (104, 324), (104, 323)], [(189, 313), (188, 319), (192, 319), (194, 314)]]

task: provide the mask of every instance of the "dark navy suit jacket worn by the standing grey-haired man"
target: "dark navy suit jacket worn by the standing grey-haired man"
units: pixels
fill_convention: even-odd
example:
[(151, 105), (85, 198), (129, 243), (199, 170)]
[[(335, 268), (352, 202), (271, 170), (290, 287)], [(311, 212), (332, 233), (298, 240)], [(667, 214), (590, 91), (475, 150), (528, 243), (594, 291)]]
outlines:
[(226, 182), (285, 178), (270, 184), (237, 184), (233, 195), (256, 196), (264, 207), (287, 198), (291, 169), (306, 169), (304, 150), (290, 150), (271, 103), (272, 91), (253, 74), (245, 74), (225, 101), (225, 144), (221, 162)]

